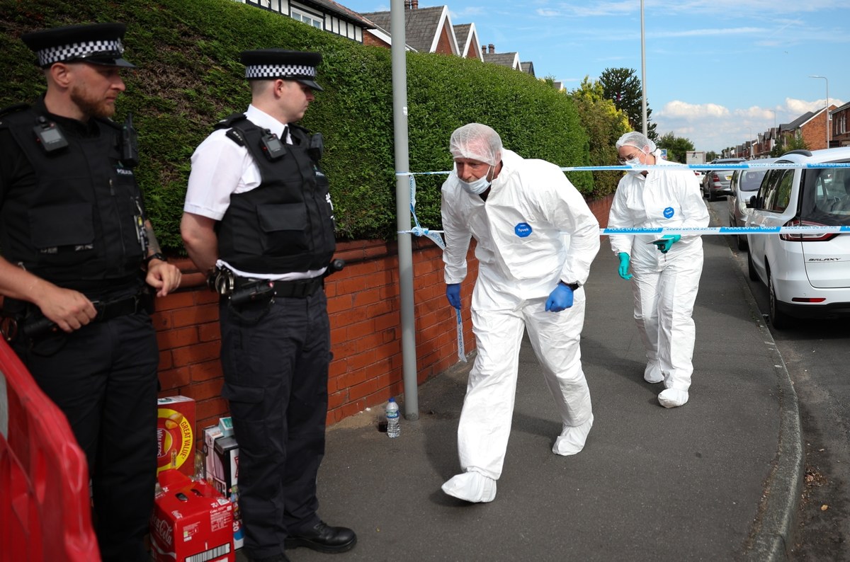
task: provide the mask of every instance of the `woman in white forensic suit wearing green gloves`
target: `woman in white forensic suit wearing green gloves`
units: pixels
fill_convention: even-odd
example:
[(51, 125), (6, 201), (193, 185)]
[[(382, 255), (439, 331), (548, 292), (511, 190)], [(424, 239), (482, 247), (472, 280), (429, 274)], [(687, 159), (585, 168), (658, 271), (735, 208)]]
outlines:
[[(639, 132), (616, 143), (620, 161), (631, 166), (663, 166), (660, 150)], [(689, 170), (630, 170), (620, 180), (608, 228), (704, 228), (708, 209)], [(616, 234), (611, 250), (620, 260), (620, 277), (632, 279), (635, 322), (646, 349), (643, 379), (663, 382), (663, 407), (688, 402), (694, 366), (694, 312), (702, 273), (699, 234)], [(629, 266), (632, 273), (629, 273)]]

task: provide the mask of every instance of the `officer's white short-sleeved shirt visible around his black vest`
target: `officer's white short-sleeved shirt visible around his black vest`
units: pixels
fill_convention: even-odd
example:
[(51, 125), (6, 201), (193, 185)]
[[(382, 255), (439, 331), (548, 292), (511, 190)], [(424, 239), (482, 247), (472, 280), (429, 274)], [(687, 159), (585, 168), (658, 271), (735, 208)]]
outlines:
[[(248, 106), (245, 115), (254, 125), (269, 129), (278, 138), (285, 138), (286, 143), (292, 144), (286, 123), (281, 123), (253, 105)], [(230, 195), (251, 191), (261, 181), (260, 170), (248, 149), (228, 138), (227, 129), (216, 129), (198, 145), (192, 155), (192, 171), (183, 210), (220, 221), (230, 205)], [(314, 278), (326, 269), (270, 274), (241, 272), (222, 260), (216, 261), (216, 265), (227, 267), (241, 277), (275, 280)]]

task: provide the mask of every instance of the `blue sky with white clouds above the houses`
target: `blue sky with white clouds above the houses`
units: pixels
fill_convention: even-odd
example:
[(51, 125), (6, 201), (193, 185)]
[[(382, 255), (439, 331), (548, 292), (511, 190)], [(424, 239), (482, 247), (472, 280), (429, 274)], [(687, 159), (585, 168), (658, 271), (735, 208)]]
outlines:
[[(388, 0), (341, 0), (356, 12)], [(420, 8), (443, 5), (419, 0)], [(659, 136), (720, 152), (826, 103), (850, 101), (847, 0), (450, 0), (452, 24), (473, 23), (496, 53), (519, 53), (538, 78), (568, 90), (629, 68), (645, 81)], [(810, 78), (809, 76), (825, 78)]]

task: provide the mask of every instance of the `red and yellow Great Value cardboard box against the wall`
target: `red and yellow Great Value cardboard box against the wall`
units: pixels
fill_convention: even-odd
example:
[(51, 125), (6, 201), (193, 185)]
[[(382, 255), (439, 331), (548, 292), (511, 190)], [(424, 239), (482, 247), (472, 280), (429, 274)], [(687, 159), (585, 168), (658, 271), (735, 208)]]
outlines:
[(195, 473), (195, 400), (189, 396), (158, 398), (156, 422), (156, 474), (178, 469)]

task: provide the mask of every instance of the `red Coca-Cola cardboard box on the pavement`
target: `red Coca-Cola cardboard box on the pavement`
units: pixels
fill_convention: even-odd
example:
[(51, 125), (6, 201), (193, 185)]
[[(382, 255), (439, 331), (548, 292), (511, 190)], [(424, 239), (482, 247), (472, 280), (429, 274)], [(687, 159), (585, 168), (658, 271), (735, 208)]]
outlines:
[(150, 517), (150, 546), (157, 562), (235, 562), (233, 504), (207, 482), (178, 470), (160, 473)]

